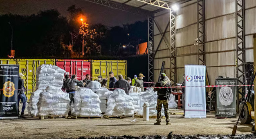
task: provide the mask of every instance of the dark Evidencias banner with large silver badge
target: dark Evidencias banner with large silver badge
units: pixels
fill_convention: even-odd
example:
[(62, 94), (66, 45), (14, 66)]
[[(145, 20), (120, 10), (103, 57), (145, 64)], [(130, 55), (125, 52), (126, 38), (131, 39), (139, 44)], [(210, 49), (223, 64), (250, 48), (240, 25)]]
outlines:
[[(216, 78), (216, 85), (237, 85), (237, 78)], [(236, 118), (236, 86), (216, 87), (216, 117)]]

